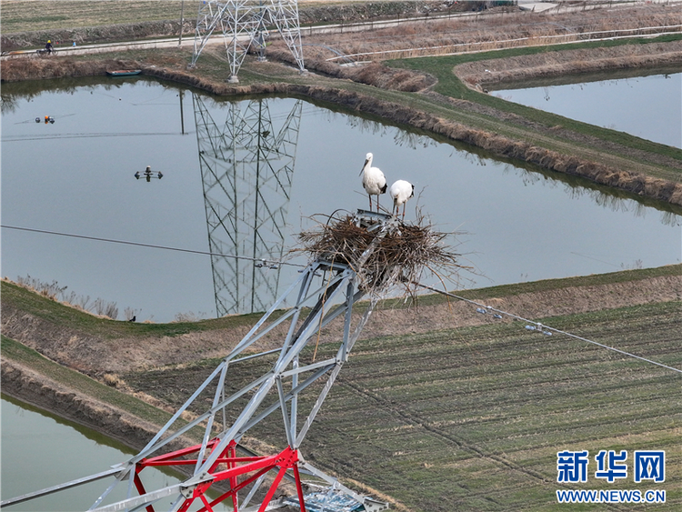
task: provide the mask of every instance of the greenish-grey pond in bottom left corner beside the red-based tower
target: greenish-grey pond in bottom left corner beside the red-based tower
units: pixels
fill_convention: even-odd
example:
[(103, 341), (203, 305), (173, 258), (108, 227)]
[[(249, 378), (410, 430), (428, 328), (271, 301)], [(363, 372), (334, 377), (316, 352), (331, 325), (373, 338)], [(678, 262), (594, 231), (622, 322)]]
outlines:
[[(5, 395), (2, 397), (0, 418), (0, 499), (3, 500), (100, 473), (134, 455), (128, 447), (97, 434), (94, 430), (55, 417)], [(155, 467), (145, 468), (142, 476), (143, 482), (150, 489), (172, 485), (178, 481), (173, 474), (164, 473)], [(5, 508), (16, 512), (87, 510), (113, 481), (99, 480)], [(111, 495), (112, 500), (124, 498), (124, 488), (116, 488)], [(170, 504), (170, 500), (167, 503), (161, 500), (156, 509), (166, 510)], [(220, 511), (226, 509), (224, 505), (217, 507)]]

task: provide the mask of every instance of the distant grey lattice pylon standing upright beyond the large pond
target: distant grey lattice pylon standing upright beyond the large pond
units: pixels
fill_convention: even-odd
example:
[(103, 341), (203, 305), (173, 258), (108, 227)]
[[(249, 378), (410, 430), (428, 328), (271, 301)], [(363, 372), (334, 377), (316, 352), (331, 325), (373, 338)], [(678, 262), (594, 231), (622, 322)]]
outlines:
[(199, 6), (196, 18), (195, 46), (190, 66), (196, 65), (208, 38), (222, 32), (230, 64), (230, 82), (237, 73), (246, 52), (254, 46), (261, 55), (265, 50), (268, 27), (276, 27), (296, 59), (301, 73), (303, 63), (301, 30), (297, 0), (208, 0)]

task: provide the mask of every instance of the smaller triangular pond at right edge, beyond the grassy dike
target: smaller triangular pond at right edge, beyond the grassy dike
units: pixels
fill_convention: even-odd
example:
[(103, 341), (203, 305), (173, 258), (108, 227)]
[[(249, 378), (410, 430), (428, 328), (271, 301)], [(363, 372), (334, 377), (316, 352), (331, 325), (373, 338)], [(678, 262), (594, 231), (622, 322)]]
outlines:
[(682, 147), (682, 73), (578, 75), (536, 86), (497, 90), (508, 101), (611, 128), (667, 146)]

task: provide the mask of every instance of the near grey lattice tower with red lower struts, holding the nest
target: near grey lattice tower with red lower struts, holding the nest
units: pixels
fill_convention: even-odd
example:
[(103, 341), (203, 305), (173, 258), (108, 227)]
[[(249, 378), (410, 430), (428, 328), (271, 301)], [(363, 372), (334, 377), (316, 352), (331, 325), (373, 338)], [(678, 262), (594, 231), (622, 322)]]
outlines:
[[(288, 474), (296, 484), (297, 497), (289, 499), (305, 512), (300, 477), (305, 473), (326, 480), (368, 512), (385, 509), (385, 503), (358, 495), (311, 466), (300, 450), (378, 300), (371, 294), (362, 316), (352, 315), (353, 305), (367, 293), (361, 277), (365, 263), (386, 235), (399, 232), (396, 218), (384, 214), (360, 210), (353, 221), (372, 237), (355, 269), (334, 256), (317, 257), (137, 455), (102, 473), (5, 500), (0, 506), (113, 477), (115, 481), (89, 510), (153, 512), (155, 504), (169, 500), (170, 506), (165, 509), (173, 512), (196, 506), (200, 507), (198, 512), (210, 512), (223, 502), (231, 503), (235, 512), (265, 512), (277, 505), (273, 497)], [(382, 273), (376, 276), (381, 282), (374, 285), (390, 285), (395, 277), (393, 271)], [(283, 310), (287, 300), (294, 306)], [(337, 318), (340, 322), (332, 324)], [(316, 358), (312, 348), (322, 329), (336, 331), (336, 335), (326, 341)], [(281, 346), (259, 347), (259, 340), (278, 336)], [(268, 343), (272, 346), (272, 341)], [(248, 371), (256, 363), (258, 368), (266, 368), (265, 373)], [(270, 433), (276, 453), (237, 455), (238, 444), (256, 426)], [(182, 441), (189, 436), (201, 441), (186, 446)], [(176, 447), (178, 443), (184, 447)], [(152, 489), (149, 482), (145, 483), (145, 468), (164, 466), (188, 467), (191, 475)], [(107, 503), (107, 497), (119, 486), (126, 497)], [(211, 487), (219, 492), (218, 497), (206, 496)], [(252, 502), (259, 503), (251, 506)]]

